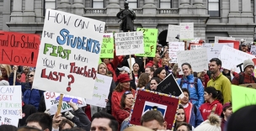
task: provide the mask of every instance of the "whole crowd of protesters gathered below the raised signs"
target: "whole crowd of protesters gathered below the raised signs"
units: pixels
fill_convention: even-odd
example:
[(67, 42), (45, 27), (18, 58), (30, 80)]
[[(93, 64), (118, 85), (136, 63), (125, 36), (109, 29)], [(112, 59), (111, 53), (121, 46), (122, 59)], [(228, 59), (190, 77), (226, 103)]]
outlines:
[[(241, 45), (241, 50), (248, 52), (248, 45)], [(189, 63), (169, 63), (168, 46), (157, 44), (156, 55), (153, 58), (132, 55), (135, 63), (129, 68), (129, 56), (114, 56), (114, 59), (102, 59), (98, 73), (113, 77), (109, 86), (109, 97), (105, 100), (105, 108), (97, 108), (97, 113), (91, 113), (91, 105), (77, 107), (68, 102), (71, 111), (52, 115), (45, 108), (44, 91), (33, 89), (35, 68), (17, 65), (0, 65), (0, 85), (21, 85), (22, 110), (24, 118), (19, 120), (19, 126), (1, 125), (0, 130), (167, 130), (167, 122), (163, 114), (152, 109), (141, 116), (141, 126), (129, 127), (129, 116), (134, 103), (136, 88), (155, 91), (157, 85), (172, 73), (184, 92), (180, 98), (179, 108), (173, 130), (176, 131), (232, 131), (231, 125), (243, 121), (247, 113), (255, 112), (255, 106), (244, 107), (243, 111), (232, 114), (231, 85), (256, 83), (253, 76), (253, 60), (244, 60), (243, 71), (235, 73), (221, 68), (221, 60), (212, 58), (209, 70), (195, 72)], [(146, 63), (144, 63), (146, 61)], [(13, 72), (17, 72), (16, 75)], [(182, 72), (183, 75), (179, 75)], [(14, 78), (16, 76), (16, 78)], [(254, 110), (252, 110), (254, 109)], [(136, 108), (133, 109), (136, 112)], [(247, 113), (245, 113), (247, 112)], [(252, 113), (254, 114), (254, 113)], [(231, 116), (234, 115), (234, 119)], [(255, 123), (255, 115), (249, 116)], [(248, 119), (245, 118), (245, 119)], [(245, 120), (244, 119), (244, 120)], [(250, 120), (250, 119), (248, 119)], [(241, 125), (241, 124), (240, 124)], [(144, 128), (147, 127), (147, 128)], [(252, 128), (253, 127), (253, 128)], [(1, 129), (2, 128), (2, 129)], [(246, 130), (253, 130), (255, 124), (248, 124)], [(239, 129), (243, 130), (243, 129)]]

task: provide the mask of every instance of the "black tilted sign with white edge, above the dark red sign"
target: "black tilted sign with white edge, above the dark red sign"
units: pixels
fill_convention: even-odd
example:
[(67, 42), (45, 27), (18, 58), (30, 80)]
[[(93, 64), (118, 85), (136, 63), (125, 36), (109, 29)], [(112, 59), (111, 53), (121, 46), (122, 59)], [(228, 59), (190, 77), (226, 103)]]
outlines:
[(166, 76), (163, 81), (161, 81), (157, 85), (157, 92), (162, 92), (168, 95), (176, 96), (183, 98), (184, 93), (182, 92), (181, 88), (179, 87), (179, 84), (175, 80), (172, 73), (170, 73), (168, 76)]

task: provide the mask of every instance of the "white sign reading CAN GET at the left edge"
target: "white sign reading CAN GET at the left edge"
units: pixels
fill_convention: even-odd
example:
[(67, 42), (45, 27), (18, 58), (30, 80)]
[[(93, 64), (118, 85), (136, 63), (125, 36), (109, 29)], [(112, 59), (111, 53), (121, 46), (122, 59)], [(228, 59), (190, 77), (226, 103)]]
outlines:
[(0, 125), (18, 126), (22, 118), (21, 86), (0, 86)]

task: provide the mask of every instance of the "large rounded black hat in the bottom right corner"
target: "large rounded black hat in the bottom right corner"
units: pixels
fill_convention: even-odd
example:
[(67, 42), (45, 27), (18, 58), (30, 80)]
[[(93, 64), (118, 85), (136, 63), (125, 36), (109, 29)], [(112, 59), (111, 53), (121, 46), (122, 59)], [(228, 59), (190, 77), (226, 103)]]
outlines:
[(255, 130), (256, 105), (250, 105), (238, 109), (227, 122), (227, 131)]

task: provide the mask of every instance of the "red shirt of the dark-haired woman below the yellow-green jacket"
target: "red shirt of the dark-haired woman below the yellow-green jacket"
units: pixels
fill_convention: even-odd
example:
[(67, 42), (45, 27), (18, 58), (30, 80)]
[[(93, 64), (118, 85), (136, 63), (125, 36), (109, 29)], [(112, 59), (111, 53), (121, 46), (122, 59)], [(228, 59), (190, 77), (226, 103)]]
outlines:
[(204, 120), (206, 120), (208, 118), (208, 116), (211, 114), (212, 108), (215, 107), (215, 106), (216, 106), (216, 110), (215, 110), (214, 113), (221, 116), (222, 104), (218, 100), (215, 100), (211, 103), (209, 103), (209, 102), (203, 103), (199, 107), (200, 113), (202, 114), (202, 117), (203, 117)]

